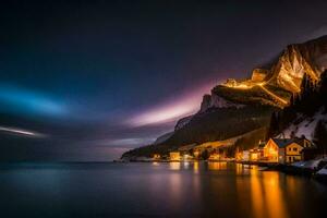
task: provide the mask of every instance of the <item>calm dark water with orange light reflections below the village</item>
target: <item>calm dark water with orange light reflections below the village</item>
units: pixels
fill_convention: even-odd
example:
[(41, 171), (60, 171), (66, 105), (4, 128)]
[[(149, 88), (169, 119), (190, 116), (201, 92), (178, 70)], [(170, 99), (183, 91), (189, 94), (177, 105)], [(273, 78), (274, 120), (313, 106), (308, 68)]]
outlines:
[[(0, 217), (323, 217), (327, 186), (241, 165), (0, 167)], [(325, 214), (326, 215), (326, 214)]]

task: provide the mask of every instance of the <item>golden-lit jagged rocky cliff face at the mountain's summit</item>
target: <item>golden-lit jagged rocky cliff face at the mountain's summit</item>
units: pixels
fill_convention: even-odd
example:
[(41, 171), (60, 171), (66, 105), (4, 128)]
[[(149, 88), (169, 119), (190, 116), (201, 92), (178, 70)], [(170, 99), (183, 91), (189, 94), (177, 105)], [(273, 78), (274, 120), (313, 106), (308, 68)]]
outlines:
[(327, 69), (327, 36), (288, 46), (270, 69), (269, 83), (298, 93), (303, 75), (317, 81)]

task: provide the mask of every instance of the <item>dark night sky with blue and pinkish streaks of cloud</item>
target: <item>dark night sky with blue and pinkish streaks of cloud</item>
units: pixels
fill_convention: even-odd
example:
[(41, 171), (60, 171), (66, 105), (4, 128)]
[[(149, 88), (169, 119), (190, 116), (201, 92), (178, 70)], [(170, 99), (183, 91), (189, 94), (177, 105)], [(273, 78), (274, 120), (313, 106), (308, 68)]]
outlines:
[(9, 2), (0, 160), (118, 158), (172, 131), (215, 84), (327, 34), (326, 1)]

